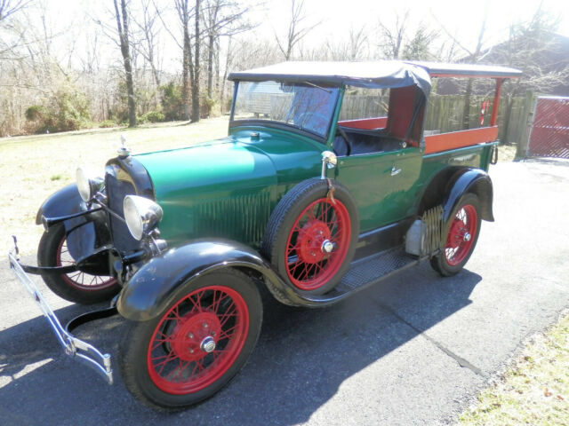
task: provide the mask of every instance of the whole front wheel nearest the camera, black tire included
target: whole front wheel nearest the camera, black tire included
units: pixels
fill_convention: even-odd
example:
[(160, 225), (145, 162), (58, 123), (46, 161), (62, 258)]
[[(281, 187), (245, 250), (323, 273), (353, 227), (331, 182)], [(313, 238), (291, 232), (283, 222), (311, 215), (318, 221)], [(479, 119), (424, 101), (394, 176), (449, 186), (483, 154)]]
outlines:
[[(214, 302), (208, 305), (220, 297), (216, 296), (218, 294), (226, 296), (219, 299), (217, 307), (213, 307)], [(224, 304), (229, 305), (226, 307)], [(217, 327), (212, 318), (216, 315), (218, 318), (219, 315), (228, 318), (228, 312), (231, 312), (233, 306), (235, 319), (223, 323), (223, 327), (229, 327), (229, 331), (233, 331), (229, 335), (229, 331), (224, 331), (224, 328), (220, 328), (218, 333), (212, 331)], [(223, 312), (223, 309), (227, 311)], [(177, 312), (177, 318), (183, 320), (174, 319), (172, 312)], [(247, 313), (246, 330), (244, 312)], [(212, 325), (204, 328), (201, 326), (204, 322), (201, 321), (209, 321)], [(164, 308), (156, 318), (144, 322), (130, 321), (127, 324), (119, 354), (124, 383), (135, 398), (155, 409), (176, 410), (195, 405), (212, 397), (244, 367), (259, 338), (261, 321), (259, 290), (244, 273), (228, 268), (188, 282), (172, 304)], [(194, 331), (195, 327), (201, 328)], [(239, 332), (241, 329), (245, 330), (244, 334)], [(200, 333), (202, 335), (197, 336)], [(203, 347), (204, 339), (212, 335), (225, 337), (219, 340), (214, 338), (216, 347), (212, 353), (198, 349)], [(200, 341), (201, 345), (196, 346), (196, 342)], [(220, 350), (222, 353), (214, 358), (214, 353), (223, 344), (225, 347)], [(192, 349), (194, 347), (196, 352)], [(169, 358), (170, 361), (161, 365), (162, 359)], [(158, 360), (156, 365), (155, 360)], [(180, 364), (176, 364), (176, 361), (180, 361)], [(203, 369), (199, 370), (198, 362), (203, 362)], [(184, 363), (187, 363), (185, 367)], [(196, 368), (201, 376), (194, 375)], [(176, 372), (176, 369), (179, 371)], [(172, 372), (176, 374), (172, 375)], [(172, 380), (168, 379), (168, 375), (172, 375)], [(188, 377), (180, 377), (180, 381), (176, 382), (178, 375)], [(208, 383), (208, 380), (212, 383)]]

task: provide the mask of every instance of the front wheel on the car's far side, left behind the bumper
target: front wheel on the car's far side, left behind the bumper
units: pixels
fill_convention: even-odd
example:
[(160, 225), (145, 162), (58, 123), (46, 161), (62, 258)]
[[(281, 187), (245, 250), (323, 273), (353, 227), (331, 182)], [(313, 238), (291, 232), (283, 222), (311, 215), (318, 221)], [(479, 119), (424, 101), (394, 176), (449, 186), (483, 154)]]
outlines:
[[(63, 224), (53, 225), (44, 232), (37, 248), (37, 264), (40, 266), (61, 266), (73, 263), (66, 256), (66, 233)], [(113, 298), (121, 289), (113, 277), (90, 275), (86, 272), (72, 272), (54, 275), (43, 274), (45, 284), (57, 296), (76, 304), (97, 304)]]

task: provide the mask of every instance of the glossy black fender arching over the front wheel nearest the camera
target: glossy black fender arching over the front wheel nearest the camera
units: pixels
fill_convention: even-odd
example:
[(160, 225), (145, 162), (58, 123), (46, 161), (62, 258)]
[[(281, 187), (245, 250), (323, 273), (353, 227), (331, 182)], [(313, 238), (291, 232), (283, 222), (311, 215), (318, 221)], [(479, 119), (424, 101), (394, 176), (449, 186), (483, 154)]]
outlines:
[(248, 267), (263, 275), (274, 274), (267, 262), (244, 244), (229, 240), (192, 241), (144, 264), (124, 286), (116, 308), (126, 319), (156, 318), (166, 306), (183, 296), (188, 282), (226, 267)]

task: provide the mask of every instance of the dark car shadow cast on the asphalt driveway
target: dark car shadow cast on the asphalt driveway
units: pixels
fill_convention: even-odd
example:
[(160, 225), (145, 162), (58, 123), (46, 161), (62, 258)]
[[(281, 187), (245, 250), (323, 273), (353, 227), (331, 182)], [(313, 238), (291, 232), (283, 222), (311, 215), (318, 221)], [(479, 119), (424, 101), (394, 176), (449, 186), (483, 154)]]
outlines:
[[(0, 418), (43, 425), (306, 422), (350, 376), (468, 305), (480, 280), (467, 270), (441, 279), (421, 264), (331, 308), (290, 308), (266, 298), (260, 340), (244, 370), (213, 398), (174, 414), (149, 410), (125, 390), (116, 371), (120, 317), (76, 330), (112, 354), (114, 386), (64, 356), (43, 317), (31, 319), (0, 333)], [(56, 313), (63, 323), (84, 311)]]

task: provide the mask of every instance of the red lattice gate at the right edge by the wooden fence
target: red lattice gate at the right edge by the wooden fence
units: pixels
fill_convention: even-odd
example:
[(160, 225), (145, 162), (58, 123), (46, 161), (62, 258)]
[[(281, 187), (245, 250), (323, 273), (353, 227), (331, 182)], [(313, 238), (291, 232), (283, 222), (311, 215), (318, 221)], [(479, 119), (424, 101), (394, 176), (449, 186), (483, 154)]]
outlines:
[(569, 98), (537, 99), (527, 155), (569, 158)]

